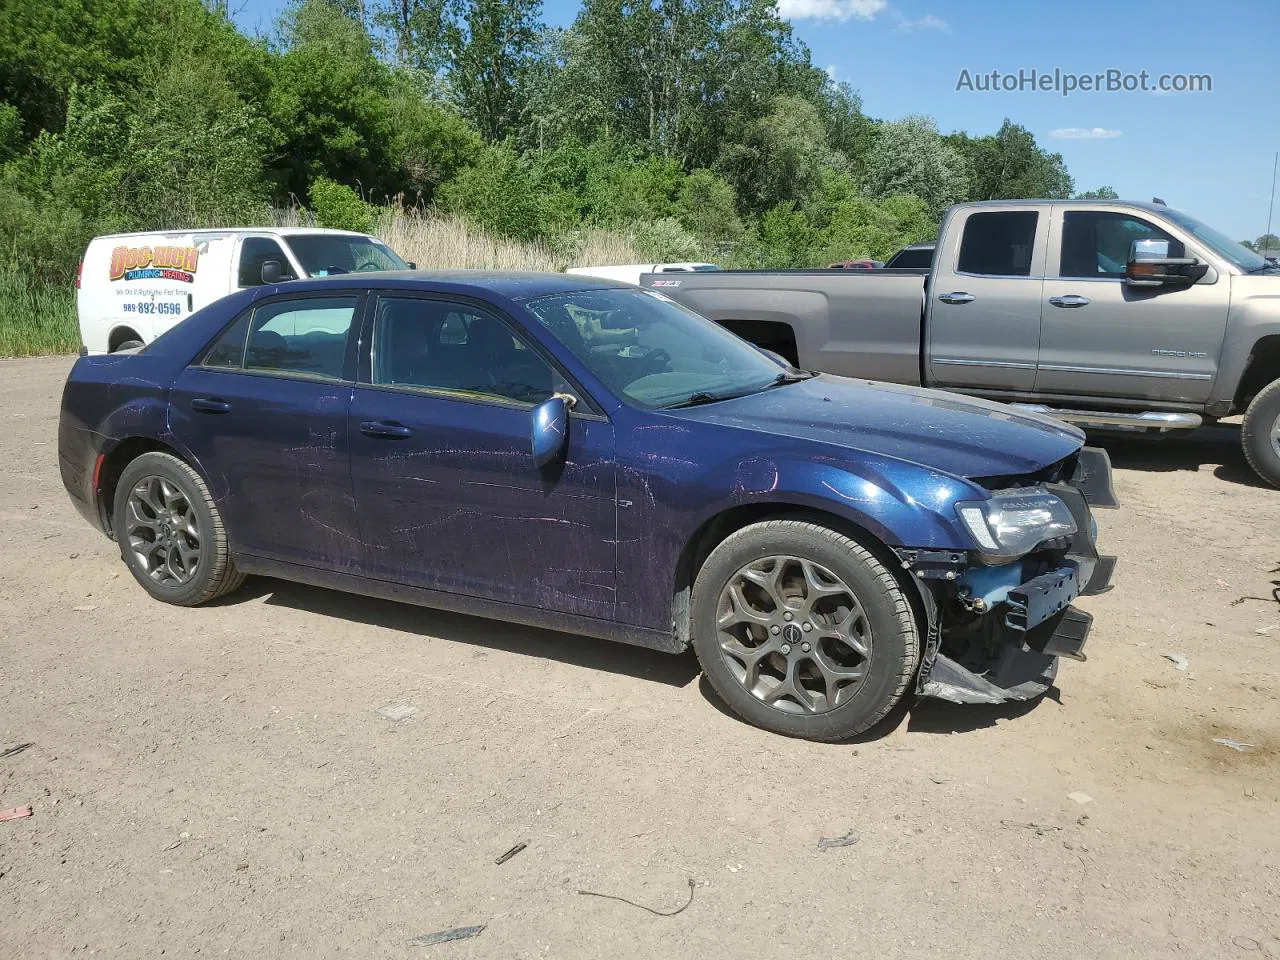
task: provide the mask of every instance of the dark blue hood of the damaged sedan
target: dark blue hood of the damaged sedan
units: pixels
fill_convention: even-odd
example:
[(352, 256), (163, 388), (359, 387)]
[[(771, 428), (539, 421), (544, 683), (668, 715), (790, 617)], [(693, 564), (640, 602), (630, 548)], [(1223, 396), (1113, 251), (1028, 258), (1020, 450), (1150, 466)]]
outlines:
[(959, 477), (1032, 474), (1084, 442), (1074, 426), (1002, 403), (827, 374), (672, 412), (876, 453)]

